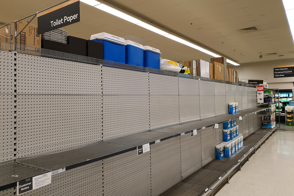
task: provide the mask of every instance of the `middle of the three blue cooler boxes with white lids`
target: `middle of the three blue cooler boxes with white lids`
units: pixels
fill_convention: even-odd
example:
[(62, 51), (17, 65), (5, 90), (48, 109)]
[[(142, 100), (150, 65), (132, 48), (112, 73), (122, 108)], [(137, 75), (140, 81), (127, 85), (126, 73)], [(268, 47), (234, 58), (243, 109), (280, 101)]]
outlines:
[(143, 45), (126, 40), (126, 64), (143, 67)]

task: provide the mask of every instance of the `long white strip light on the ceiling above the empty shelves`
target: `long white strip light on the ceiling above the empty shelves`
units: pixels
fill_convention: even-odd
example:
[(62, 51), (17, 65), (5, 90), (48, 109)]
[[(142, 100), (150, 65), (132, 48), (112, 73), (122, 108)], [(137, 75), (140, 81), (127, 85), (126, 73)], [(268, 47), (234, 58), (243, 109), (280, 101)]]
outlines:
[[(130, 16), (128, 14), (125, 14), (125, 13), (123, 13), (123, 12), (117, 10), (117, 9), (114, 9), (114, 8), (108, 6), (108, 5), (101, 4), (100, 2), (95, 1), (95, 0), (81, 0), (81, 1), (84, 2), (84, 3), (86, 3), (86, 4), (88, 4), (88, 5), (94, 6), (94, 7), (98, 8), (98, 9), (100, 9), (102, 11), (106, 11), (109, 14), (112, 14), (114, 16), (117, 16), (117, 17), (121, 18), (121, 19), (124, 19), (126, 21), (129, 21), (129, 22), (131, 22), (133, 24), (136, 24), (138, 26), (141, 26), (141, 27), (143, 27), (145, 29), (148, 29), (150, 31), (153, 31), (155, 33), (158, 33), (159, 35), (165, 36), (165, 37), (170, 38), (170, 39), (172, 39), (174, 41), (177, 41), (179, 43), (185, 44), (186, 46), (189, 46), (191, 48), (194, 48), (196, 50), (199, 50), (201, 52), (204, 52), (204, 53), (206, 53), (208, 55), (211, 55), (213, 57), (221, 57), (220, 55), (218, 55), (216, 53), (213, 53), (211, 51), (208, 51), (205, 48), (202, 48), (200, 46), (197, 46), (197, 45), (195, 45), (195, 44), (193, 44), (193, 43), (191, 43), (189, 41), (186, 41), (186, 40), (184, 40), (182, 38), (179, 38), (177, 36), (171, 35), (170, 33), (167, 33), (166, 31), (163, 31), (161, 29), (158, 29), (155, 26), (152, 26), (150, 24), (147, 24), (147, 23), (145, 23), (145, 22), (143, 22), (143, 21), (141, 21), (139, 19), (136, 19), (133, 16)], [(230, 60), (228, 60), (228, 62), (229, 61)], [(233, 65), (239, 65), (239, 64), (237, 64), (237, 63), (235, 63), (233, 61), (231, 61), (231, 62), (232, 62)]]

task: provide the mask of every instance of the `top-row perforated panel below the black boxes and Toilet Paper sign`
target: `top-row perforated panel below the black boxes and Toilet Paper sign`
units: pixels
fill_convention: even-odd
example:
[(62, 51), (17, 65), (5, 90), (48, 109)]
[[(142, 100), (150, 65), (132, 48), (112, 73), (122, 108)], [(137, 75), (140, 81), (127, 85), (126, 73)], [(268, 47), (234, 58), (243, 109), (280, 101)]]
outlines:
[(101, 95), (101, 66), (17, 54), (18, 94)]

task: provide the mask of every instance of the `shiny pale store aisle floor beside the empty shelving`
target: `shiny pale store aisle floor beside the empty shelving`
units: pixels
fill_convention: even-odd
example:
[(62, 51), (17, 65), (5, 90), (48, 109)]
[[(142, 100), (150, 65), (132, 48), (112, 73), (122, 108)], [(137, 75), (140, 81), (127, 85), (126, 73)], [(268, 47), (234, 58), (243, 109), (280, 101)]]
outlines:
[(276, 131), (215, 196), (294, 195), (294, 133)]

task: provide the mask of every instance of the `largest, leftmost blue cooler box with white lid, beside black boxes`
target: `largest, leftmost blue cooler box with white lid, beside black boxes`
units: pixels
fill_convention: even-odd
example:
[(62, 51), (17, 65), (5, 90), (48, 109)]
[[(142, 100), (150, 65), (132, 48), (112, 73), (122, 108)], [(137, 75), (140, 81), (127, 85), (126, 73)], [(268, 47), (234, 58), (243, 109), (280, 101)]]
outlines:
[(125, 63), (125, 39), (109, 33), (91, 35), (92, 41), (103, 43), (103, 60)]

